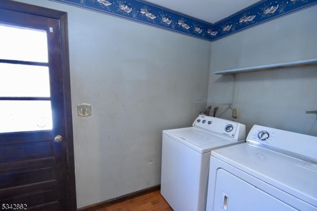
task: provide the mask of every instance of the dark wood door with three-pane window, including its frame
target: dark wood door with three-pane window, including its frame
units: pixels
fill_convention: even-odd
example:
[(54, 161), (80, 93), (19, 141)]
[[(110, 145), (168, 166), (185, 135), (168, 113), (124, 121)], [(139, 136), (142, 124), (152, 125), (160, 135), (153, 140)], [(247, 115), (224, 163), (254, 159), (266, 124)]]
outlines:
[(1, 210), (75, 210), (67, 36), (54, 12), (1, 0)]

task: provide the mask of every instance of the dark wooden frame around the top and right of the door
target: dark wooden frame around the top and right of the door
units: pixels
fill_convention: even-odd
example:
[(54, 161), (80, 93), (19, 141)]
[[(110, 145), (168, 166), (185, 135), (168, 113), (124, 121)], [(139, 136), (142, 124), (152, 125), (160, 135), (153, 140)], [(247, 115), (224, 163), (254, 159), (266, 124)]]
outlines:
[(70, 211), (76, 211), (76, 186), (75, 186), (75, 165), (74, 165), (74, 144), (73, 127), (71, 115), (71, 93), (70, 93), (70, 69), (68, 52), (68, 31), (67, 31), (67, 13), (50, 8), (35, 6), (16, 2), (12, 0), (1, 0), (1, 9), (18, 11), (43, 17), (49, 17), (59, 20), (61, 31), (61, 61), (62, 61), (62, 84), (64, 92), (64, 110), (66, 126), (66, 151), (67, 151), (67, 180), (68, 180), (68, 202)]

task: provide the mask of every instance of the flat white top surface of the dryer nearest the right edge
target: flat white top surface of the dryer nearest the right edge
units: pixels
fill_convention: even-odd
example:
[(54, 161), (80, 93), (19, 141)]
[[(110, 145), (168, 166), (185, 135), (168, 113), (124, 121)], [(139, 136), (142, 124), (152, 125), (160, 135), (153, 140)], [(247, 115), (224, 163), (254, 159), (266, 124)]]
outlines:
[(317, 163), (249, 143), (212, 151), (211, 156), (317, 207)]

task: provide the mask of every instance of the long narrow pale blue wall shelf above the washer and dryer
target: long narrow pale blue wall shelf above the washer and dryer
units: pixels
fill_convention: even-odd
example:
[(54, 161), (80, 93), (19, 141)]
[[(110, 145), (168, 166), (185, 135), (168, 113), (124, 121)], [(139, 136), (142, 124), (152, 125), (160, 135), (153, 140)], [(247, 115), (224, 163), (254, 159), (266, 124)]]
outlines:
[(292, 61), (292, 62), (286, 62), (286, 63), (245, 67), (245, 68), (239, 68), (239, 69), (222, 70), (222, 71), (217, 71), (213, 73), (218, 75), (226, 75), (226, 74), (235, 74), (235, 73), (241, 73), (241, 72), (256, 72), (256, 71), (263, 71), (263, 70), (274, 70), (274, 69), (302, 67), (302, 66), (311, 66), (311, 65), (317, 65), (317, 58), (301, 60), (301, 61)]

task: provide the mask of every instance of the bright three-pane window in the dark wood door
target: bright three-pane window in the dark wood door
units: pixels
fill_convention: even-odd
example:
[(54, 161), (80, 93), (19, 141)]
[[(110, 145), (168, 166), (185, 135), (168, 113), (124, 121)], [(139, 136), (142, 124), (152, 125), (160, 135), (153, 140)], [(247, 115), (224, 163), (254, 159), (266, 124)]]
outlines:
[(52, 130), (46, 31), (0, 24), (0, 133)]

